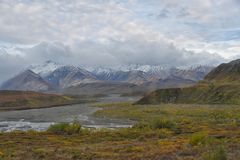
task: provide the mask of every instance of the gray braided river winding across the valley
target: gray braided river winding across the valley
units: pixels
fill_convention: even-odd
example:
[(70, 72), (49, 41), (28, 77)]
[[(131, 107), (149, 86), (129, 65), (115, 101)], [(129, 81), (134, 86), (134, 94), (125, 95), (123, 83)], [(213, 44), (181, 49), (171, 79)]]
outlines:
[[(101, 102), (135, 101), (138, 97), (120, 97), (111, 95), (100, 98)], [(92, 128), (118, 128), (130, 127), (134, 122), (109, 118), (96, 118), (91, 116), (101, 108), (93, 107), (92, 103), (67, 105), (53, 108), (31, 109), (21, 111), (0, 112), (0, 132), (13, 130), (44, 131), (51, 124), (60, 122), (80, 121), (86, 127)]]

